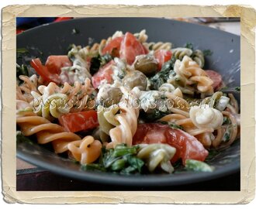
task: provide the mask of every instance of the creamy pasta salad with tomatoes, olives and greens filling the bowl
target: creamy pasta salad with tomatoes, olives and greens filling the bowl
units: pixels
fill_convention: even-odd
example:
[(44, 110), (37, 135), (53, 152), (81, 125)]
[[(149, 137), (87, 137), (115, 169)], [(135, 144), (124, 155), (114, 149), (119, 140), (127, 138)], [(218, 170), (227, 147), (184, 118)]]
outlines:
[(239, 105), (209, 51), (116, 31), (67, 55), (17, 64), (17, 138), (34, 136), (81, 164), (114, 173), (213, 171), (209, 150), (240, 137)]

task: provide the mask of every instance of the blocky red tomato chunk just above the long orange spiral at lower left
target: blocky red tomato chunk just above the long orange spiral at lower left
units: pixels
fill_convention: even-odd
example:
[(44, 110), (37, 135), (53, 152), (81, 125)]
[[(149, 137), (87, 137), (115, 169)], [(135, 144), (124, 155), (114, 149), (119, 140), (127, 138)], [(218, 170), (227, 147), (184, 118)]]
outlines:
[(59, 122), (67, 132), (85, 131), (99, 126), (96, 111), (79, 111), (61, 115)]

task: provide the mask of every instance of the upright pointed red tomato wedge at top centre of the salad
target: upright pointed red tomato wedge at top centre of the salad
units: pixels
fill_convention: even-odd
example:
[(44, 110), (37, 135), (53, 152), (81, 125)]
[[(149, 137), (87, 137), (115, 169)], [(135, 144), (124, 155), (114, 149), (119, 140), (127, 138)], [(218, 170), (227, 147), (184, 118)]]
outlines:
[(132, 64), (136, 56), (145, 53), (144, 46), (137, 38), (132, 33), (126, 33), (121, 43), (120, 58), (125, 59), (128, 64)]

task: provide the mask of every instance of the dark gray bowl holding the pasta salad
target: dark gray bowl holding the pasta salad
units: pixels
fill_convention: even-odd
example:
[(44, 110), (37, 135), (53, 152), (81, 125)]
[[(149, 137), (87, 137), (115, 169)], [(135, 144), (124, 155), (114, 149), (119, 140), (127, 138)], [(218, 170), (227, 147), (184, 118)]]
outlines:
[[(79, 33), (72, 33), (74, 29), (78, 29)], [(148, 41), (171, 42), (174, 46), (192, 43), (195, 49), (213, 51), (211, 56), (206, 57), (205, 69), (220, 72), (230, 87), (240, 86), (240, 36), (188, 22), (153, 18), (73, 19), (39, 26), (19, 34), (17, 48), (27, 47), (34, 56), (40, 55), (45, 60), (50, 54), (66, 54), (71, 43), (86, 46), (90, 40), (99, 42), (116, 30), (136, 33), (141, 29), (147, 29)], [(28, 60), (18, 58), (17, 61), (22, 63)], [(240, 98), (237, 99), (240, 101)], [(85, 172), (70, 159), (57, 156), (43, 146), (28, 142), (17, 143), (17, 156), (46, 170), (80, 180), (144, 187), (212, 180), (240, 170), (240, 142), (234, 143), (209, 160), (208, 163), (216, 168), (213, 173), (181, 170), (175, 174), (121, 176), (113, 173)]]

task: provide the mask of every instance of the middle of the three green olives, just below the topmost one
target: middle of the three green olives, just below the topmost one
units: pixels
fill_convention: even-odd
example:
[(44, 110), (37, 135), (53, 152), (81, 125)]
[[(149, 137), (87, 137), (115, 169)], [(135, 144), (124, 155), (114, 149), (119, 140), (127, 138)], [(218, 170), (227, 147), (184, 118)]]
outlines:
[(147, 77), (138, 70), (133, 70), (123, 78), (123, 86), (133, 89), (138, 87), (141, 91), (147, 88)]

